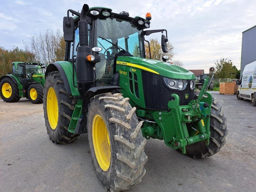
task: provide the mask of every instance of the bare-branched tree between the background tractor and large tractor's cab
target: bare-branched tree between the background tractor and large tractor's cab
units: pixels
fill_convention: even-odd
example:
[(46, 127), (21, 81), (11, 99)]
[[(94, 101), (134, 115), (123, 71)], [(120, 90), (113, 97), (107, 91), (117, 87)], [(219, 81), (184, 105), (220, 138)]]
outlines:
[(24, 42), (25, 50), (35, 55), (37, 62), (50, 64), (57, 60), (64, 60), (65, 42), (60, 30), (48, 29), (33, 35), (29, 42)]

